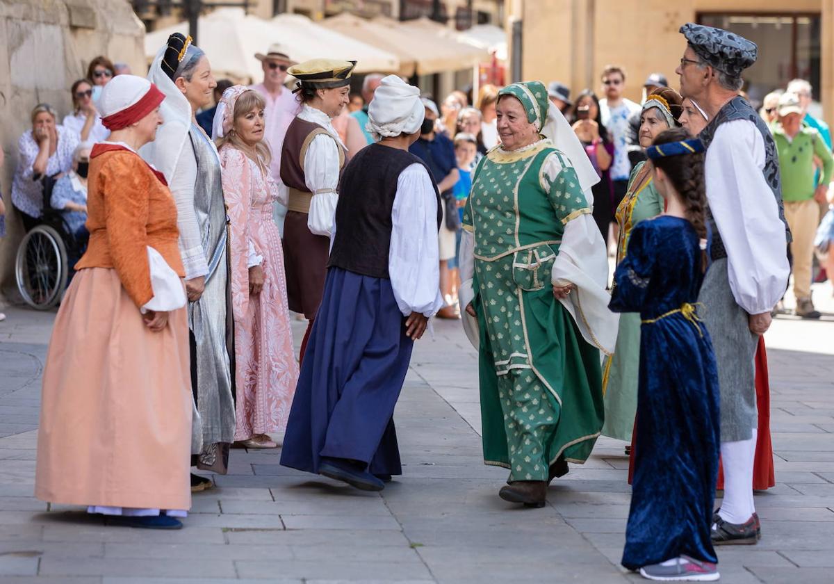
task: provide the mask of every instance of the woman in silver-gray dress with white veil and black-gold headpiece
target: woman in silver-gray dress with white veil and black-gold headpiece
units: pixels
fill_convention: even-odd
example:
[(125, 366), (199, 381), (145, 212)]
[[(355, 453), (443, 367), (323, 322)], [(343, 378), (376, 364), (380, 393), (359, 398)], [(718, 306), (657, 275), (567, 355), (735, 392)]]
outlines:
[[(196, 405), (194, 464), (225, 474), (235, 422), (226, 207), (217, 149), (195, 118), (217, 83), (203, 51), (179, 33), (159, 50), (148, 78), (166, 96), (157, 140), (142, 154), (168, 179), (177, 204)], [(192, 475), (193, 491), (210, 486), (210, 480)]]

